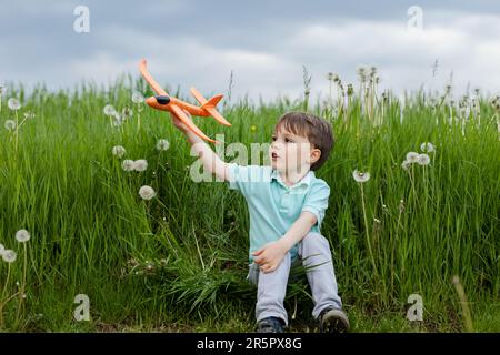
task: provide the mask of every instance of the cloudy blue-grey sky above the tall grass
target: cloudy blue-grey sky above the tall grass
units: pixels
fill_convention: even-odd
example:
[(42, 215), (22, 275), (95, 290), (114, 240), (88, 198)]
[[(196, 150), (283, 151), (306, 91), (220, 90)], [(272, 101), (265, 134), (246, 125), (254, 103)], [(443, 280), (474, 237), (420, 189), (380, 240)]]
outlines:
[(381, 90), (442, 90), (452, 73), (456, 95), (498, 94), (500, 1), (0, 0), (0, 82), (107, 87), (142, 58), (183, 93), (227, 94), (232, 72), (231, 100), (299, 98), (303, 67), (313, 98), (328, 72), (356, 84), (360, 65)]

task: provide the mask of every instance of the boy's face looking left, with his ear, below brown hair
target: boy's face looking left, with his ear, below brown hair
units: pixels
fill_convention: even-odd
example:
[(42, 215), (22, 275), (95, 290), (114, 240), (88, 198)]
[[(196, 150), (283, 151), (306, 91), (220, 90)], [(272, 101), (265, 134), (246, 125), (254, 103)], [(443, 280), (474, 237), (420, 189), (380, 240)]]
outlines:
[(320, 150), (313, 149), (306, 136), (296, 135), (284, 130), (272, 134), (269, 158), (272, 169), (280, 172), (300, 173), (306, 169), (309, 170), (320, 154)]

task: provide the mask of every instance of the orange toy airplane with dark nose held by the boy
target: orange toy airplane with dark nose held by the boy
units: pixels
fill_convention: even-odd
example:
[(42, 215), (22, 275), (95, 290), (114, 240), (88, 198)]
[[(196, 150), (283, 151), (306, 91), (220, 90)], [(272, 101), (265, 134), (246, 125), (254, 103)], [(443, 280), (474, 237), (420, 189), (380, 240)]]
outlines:
[(201, 106), (192, 105), (188, 102), (181, 101), (179, 99), (176, 99), (171, 95), (169, 95), (158, 84), (158, 82), (152, 79), (151, 74), (146, 69), (146, 59), (141, 60), (139, 63), (139, 70), (141, 71), (142, 77), (146, 79), (146, 81), (149, 83), (151, 89), (157, 93), (157, 95), (148, 98), (146, 100), (146, 103), (157, 110), (161, 111), (169, 111), (172, 114), (174, 114), (182, 123), (184, 123), (190, 131), (192, 131), (196, 135), (200, 136), (201, 139), (219, 143), (216, 140), (212, 140), (208, 138), (194, 123), (192, 123), (186, 113), (182, 110), (188, 111), (192, 115), (199, 115), (199, 116), (212, 116), (219, 123), (223, 125), (231, 125), (226, 119), (216, 110), (217, 103), (222, 99), (222, 94), (214, 95), (210, 100), (207, 101), (207, 99), (203, 98), (203, 95), (194, 88), (191, 88), (191, 93), (194, 97), (194, 99), (198, 100), (198, 102), (201, 104)]

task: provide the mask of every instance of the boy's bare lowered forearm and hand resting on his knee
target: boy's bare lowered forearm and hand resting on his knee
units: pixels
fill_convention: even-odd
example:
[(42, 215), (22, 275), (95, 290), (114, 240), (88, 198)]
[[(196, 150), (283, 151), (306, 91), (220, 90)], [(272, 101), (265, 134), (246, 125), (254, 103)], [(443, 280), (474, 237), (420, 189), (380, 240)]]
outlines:
[(252, 255), (257, 256), (253, 261), (260, 265), (260, 270), (264, 273), (273, 272), (288, 251), (309, 233), (316, 222), (317, 217), (312, 212), (303, 211), (280, 240), (268, 243), (253, 252)]

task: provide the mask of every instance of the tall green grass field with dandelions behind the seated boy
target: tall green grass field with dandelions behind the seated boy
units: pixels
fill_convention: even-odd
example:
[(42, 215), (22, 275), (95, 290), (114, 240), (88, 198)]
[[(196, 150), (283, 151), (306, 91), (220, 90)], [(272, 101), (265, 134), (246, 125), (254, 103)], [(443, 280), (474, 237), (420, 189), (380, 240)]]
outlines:
[[(227, 145), (247, 146), (270, 142), (287, 111), (331, 121), (336, 146), (317, 172), (331, 187), (321, 232), (352, 331), (500, 332), (499, 110), (481, 94), (452, 102), (449, 90), (419, 91), (402, 100), (376, 89), (367, 81), (340, 101), (308, 90), (297, 100), (241, 100), (221, 108), (231, 128), (194, 121), (212, 138), (223, 133)], [(167, 114), (132, 102), (133, 91), (152, 94), (131, 78), (109, 91), (3, 92), (0, 243), (17, 260), (0, 261), (0, 329), (253, 331), (244, 200), (224, 183), (192, 182), (187, 141)], [(10, 98), (21, 108), (11, 110)], [(121, 122), (103, 113), (107, 104)], [(157, 149), (160, 139), (168, 150)], [(430, 163), (403, 169), (424, 142), (436, 148)], [(126, 159), (148, 168), (124, 171)], [(354, 181), (356, 169), (369, 181)], [(142, 185), (156, 197), (142, 200)], [(28, 242), (16, 240), (19, 230)], [(290, 331), (316, 331), (303, 270), (293, 274)], [(89, 321), (73, 317), (79, 294), (88, 296)], [(412, 294), (422, 298), (422, 321), (407, 318)]]

